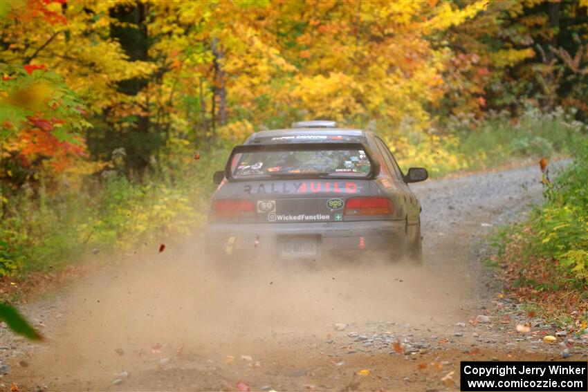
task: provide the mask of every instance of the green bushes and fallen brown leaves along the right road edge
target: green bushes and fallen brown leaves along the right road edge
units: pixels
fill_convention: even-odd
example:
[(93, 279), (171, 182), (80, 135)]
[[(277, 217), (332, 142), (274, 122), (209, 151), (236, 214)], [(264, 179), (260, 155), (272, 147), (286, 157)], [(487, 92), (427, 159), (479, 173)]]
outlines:
[(495, 236), (492, 259), (511, 296), (578, 331), (588, 324), (588, 139), (571, 151), (571, 165), (545, 184), (543, 205)]

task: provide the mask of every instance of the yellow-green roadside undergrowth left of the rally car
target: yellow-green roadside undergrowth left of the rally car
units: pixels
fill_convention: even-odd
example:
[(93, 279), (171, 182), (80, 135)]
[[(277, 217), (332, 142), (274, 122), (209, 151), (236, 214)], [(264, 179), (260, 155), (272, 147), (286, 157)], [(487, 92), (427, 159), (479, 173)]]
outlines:
[[(190, 236), (207, 214), (212, 173), (223, 152), (194, 160), (176, 151), (167, 166), (128, 180), (116, 168), (79, 187), (24, 187), (4, 205), (0, 276), (6, 284), (33, 272), (57, 272), (93, 252), (103, 256), (143, 243)], [(14, 285), (13, 285), (14, 286)]]

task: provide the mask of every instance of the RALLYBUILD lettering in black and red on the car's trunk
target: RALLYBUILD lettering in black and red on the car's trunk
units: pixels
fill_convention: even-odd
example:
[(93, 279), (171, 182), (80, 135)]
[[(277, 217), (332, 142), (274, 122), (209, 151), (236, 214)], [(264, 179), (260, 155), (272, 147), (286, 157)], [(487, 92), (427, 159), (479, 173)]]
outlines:
[(300, 183), (260, 183), (258, 185), (245, 185), (244, 192), (249, 195), (259, 194), (355, 194), (361, 192), (361, 188), (353, 181), (304, 181)]

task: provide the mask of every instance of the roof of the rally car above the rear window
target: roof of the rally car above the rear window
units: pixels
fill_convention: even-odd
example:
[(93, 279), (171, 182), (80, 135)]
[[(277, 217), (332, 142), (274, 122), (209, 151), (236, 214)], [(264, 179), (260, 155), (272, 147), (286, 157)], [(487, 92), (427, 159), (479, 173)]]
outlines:
[[(266, 144), (266, 143), (275, 143), (275, 142), (301, 142), (304, 141), (305, 136), (342, 136), (342, 142), (349, 142), (350, 139), (357, 140), (358, 142), (365, 141), (367, 139), (368, 131), (364, 131), (362, 129), (352, 129), (352, 128), (325, 128), (325, 127), (318, 127), (318, 128), (291, 128), (291, 129), (272, 129), (269, 131), (259, 131), (253, 133), (245, 144)], [(296, 136), (300, 136), (301, 138), (295, 139)], [(277, 138), (286, 137), (282, 140), (277, 140)], [(291, 137), (291, 140), (288, 140), (287, 137)], [(302, 139), (302, 140), (301, 140)], [(311, 140), (309, 140), (311, 141)], [(317, 140), (312, 140), (317, 141)], [(329, 142), (333, 142), (336, 140), (329, 140)]]

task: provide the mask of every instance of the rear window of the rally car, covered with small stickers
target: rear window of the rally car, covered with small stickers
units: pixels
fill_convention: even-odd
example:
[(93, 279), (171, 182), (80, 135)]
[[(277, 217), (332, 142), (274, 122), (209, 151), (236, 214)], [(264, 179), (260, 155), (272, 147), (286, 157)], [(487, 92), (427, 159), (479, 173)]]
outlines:
[(239, 153), (231, 165), (233, 178), (312, 175), (367, 177), (371, 164), (361, 149), (255, 151)]

